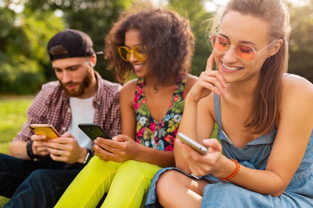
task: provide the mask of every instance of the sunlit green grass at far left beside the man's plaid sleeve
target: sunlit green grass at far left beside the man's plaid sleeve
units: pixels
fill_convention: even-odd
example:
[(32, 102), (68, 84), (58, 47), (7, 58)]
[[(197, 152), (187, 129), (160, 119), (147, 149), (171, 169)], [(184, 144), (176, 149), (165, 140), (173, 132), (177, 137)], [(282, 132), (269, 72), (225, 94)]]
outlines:
[[(26, 110), (34, 96), (0, 96), (0, 153), (8, 154), (8, 146), (27, 120)], [(0, 208), (8, 201), (0, 196)]]

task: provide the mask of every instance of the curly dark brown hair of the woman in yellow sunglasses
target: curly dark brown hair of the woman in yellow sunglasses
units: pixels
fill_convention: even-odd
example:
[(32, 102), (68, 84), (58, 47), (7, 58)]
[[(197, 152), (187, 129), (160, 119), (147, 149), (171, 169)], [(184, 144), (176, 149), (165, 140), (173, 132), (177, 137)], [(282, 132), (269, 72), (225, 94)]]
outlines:
[(120, 82), (134, 75), (131, 64), (123, 61), (117, 51), (118, 46), (124, 45), (125, 33), (130, 29), (139, 32), (140, 46), (146, 46), (142, 52), (147, 54), (148, 70), (157, 77), (156, 86), (191, 70), (194, 36), (189, 20), (175, 11), (156, 8), (150, 1), (135, 1), (120, 14), (105, 37), (104, 57), (109, 59), (108, 69)]

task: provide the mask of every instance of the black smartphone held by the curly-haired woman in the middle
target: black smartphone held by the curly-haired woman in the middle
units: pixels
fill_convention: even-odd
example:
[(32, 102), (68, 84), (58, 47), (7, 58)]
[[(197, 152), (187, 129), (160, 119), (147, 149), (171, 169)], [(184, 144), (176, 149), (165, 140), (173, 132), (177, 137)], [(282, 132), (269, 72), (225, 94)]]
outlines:
[(92, 141), (97, 137), (102, 137), (104, 139), (112, 139), (111, 136), (102, 129), (98, 124), (95, 123), (81, 123), (78, 124), (79, 129), (81, 129)]

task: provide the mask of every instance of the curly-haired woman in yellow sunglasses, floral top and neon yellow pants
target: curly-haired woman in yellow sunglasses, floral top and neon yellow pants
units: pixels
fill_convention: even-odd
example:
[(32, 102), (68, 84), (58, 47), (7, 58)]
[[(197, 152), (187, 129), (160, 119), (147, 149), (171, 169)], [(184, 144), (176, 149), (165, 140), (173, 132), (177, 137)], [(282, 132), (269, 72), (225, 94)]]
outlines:
[(156, 171), (175, 165), (184, 98), (197, 79), (188, 74), (193, 44), (186, 18), (149, 1), (120, 15), (104, 53), (118, 80), (128, 80), (120, 91), (121, 135), (94, 141), (95, 156), (56, 207), (96, 207), (105, 193), (103, 208), (143, 207)]

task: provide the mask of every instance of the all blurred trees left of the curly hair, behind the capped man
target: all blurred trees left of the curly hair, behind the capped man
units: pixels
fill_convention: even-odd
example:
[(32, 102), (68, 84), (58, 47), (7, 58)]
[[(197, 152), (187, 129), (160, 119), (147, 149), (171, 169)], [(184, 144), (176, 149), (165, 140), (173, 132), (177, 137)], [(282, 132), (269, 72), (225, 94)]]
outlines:
[[(55, 80), (46, 51), (48, 40), (64, 28), (86, 32), (94, 50), (131, 0), (0, 0), (0, 93), (33, 93)], [(21, 13), (14, 8), (23, 5)], [(60, 17), (61, 16), (61, 17)], [(96, 70), (115, 81), (98, 55)]]

